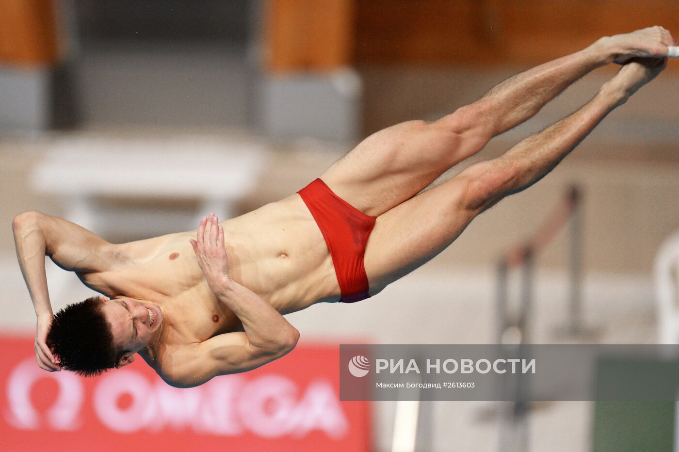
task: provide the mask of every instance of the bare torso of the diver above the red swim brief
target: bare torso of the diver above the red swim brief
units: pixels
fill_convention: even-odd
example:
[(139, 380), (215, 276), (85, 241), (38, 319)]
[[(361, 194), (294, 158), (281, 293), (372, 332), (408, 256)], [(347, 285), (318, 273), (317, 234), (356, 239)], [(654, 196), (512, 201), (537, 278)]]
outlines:
[[(327, 245), (297, 193), (221, 225), (231, 278), (281, 314), (339, 299)], [(108, 297), (124, 295), (162, 307), (162, 343), (139, 352), (157, 371), (175, 347), (242, 331), (240, 320), (204, 281), (189, 243), (195, 237), (187, 231), (121, 245), (115, 270), (81, 276)]]

